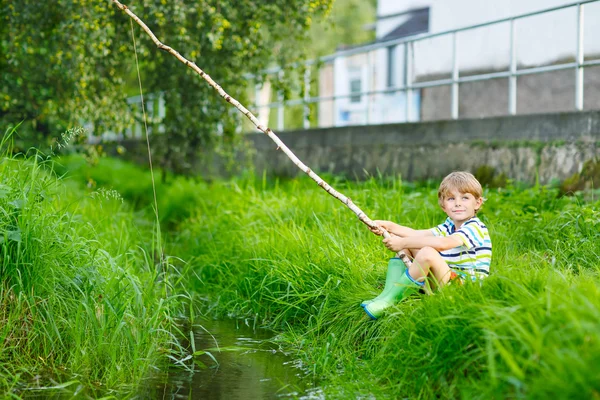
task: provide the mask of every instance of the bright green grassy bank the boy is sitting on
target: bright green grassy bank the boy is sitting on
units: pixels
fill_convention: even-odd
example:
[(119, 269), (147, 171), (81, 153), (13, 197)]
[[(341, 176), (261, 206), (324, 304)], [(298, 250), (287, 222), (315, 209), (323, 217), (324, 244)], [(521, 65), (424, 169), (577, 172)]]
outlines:
[[(81, 179), (101, 180), (112, 163)], [(125, 189), (122, 176), (111, 187), (135, 196), (144, 181)], [(435, 184), (328, 181), (371, 218), (416, 228), (444, 219)], [(282, 332), (328, 398), (598, 396), (600, 203), (544, 187), (486, 196), (492, 276), (412, 298), (378, 321), (359, 303), (382, 289), (392, 254), (309, 179), (173, 179), (159, 209), (169, 253), (193, 271), (185, 282), (197, 307)]]

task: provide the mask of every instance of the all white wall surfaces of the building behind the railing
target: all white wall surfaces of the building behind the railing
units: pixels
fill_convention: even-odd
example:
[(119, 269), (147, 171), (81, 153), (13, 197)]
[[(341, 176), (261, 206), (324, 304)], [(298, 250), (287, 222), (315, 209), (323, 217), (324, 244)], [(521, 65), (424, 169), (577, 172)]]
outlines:
[[(572, 0), (379, 0), (377, 38), (387, 35), (409, 18), (402, 13), (424, 7), (429, 7), (429, 33), (439, 33), (571, 3)], [(596, 21), (600, 21), (600, 1), (584, 5), (584, 15), (584, 52), (598, 58), (600, 24)], [(389, 18), (381, 18), (386, 16)], [(515, 34), (518, 68), (573, 60), (576, 55), (576, 27), (577, 7), (517, 20)], [(473, 72), (508, 70), (510, 23), (457, 33), (457, 56), (460, 76)], [(348, 95), (350, 80), (353, 79), (350, 75), (357, 74), (362, 77), (362, 90), (390, 89), (387, 81), (387, 48), (373, 51), (370, 58), (370, 67), (365, 54), (362, 57), (354, 55), (335, 59), (335, 96)], [(404, 44), (397, 45), (394, 58), (393, 87), (402, 87), (406, 75)], [(412, 82), (449, 78), (453, 65), (453, 36), (442, 35), (415, 42), (411, 60)], [(357, 69), (361, 72), (357, 73)], [(328, 94), (321, 92), (321, 95)], [(503, 93), (501, 95), (504, 96)], [(330, 126), (331, 123), (340, 126), (418, 121), (422, 116), (420, 107), (423, 99), (419, 90), (413, 91), (409, 107), (404, 92), (379, 93), (369, 97), (365, 95), (359, 103), (352, 103), (348, 98), (337, 99), (330, 108), (333, 118), (320, 120), (319, 126)], [(506, 109), (504, 105), (499, 107)], [(410, 108), (409, 118), (406, 115), (407, 108)]]

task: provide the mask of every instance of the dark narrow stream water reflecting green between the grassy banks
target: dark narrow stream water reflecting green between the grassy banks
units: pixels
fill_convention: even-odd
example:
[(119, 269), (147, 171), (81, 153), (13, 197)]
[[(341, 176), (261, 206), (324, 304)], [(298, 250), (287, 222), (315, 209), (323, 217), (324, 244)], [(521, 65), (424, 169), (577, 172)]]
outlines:
[[(270, 342), (273, 334), (243, 321), (207, 321), (194, 330), (194, 372), (172, 369), (156, 376), (139, 398), (252, 400), (319, 398), (312, 382)], [(220, 351), (219, 351), (220, 350)], [(213, 358), (216, 360), (213, 360)], [(217, 364), (218, 363), (218, 364)]]

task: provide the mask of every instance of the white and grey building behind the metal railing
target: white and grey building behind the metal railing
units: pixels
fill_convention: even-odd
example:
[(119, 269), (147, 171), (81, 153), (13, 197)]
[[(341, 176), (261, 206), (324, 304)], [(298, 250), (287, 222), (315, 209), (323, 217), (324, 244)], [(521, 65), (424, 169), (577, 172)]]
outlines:
[(600, 1), (379, 0), (324, 59), (318, 126), (600, 109)]

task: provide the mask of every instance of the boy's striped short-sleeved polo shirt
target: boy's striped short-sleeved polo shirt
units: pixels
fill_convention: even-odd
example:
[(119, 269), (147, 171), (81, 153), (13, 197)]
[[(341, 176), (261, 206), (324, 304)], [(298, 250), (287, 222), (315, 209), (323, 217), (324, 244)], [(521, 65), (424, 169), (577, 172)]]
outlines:
[(492, 241), (487, 227), (477, 217), (473, 217), (456, 230), (454, 222), (447, 218), (443, 224), (431, 228), (433, 236), (457, 235), (462, 246), (440, 251), (448, 266), (459, 275), (471, 276), (472, 280), (483, 279), (490, 274), (492, 262)]

